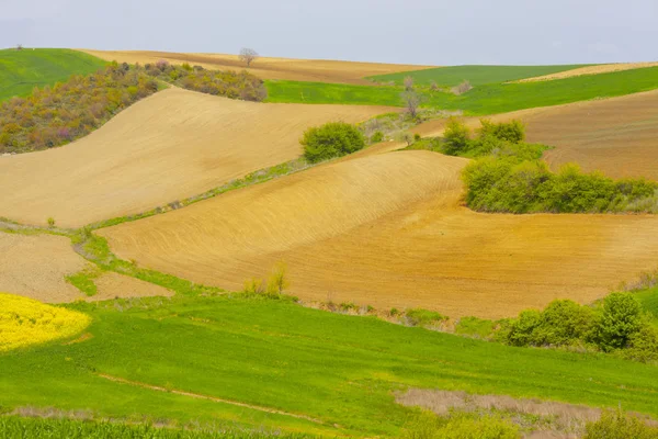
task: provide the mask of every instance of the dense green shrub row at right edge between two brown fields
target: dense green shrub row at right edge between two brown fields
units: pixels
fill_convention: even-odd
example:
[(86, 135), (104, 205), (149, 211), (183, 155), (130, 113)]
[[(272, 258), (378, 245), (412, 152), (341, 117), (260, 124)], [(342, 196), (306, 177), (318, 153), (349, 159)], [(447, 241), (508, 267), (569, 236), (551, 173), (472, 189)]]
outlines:
[(658, 213), (658, 183), (645, 179), (613, 180), (586, 173), (577, 165), (552, 172), (540, 160), (543, 145), (524, 142), (519, 121), (481, 121), (476, 137), (452, 121), (442, 151), (478, 157), (463, 172), (466, 204), (480, 212), (507, 213)]

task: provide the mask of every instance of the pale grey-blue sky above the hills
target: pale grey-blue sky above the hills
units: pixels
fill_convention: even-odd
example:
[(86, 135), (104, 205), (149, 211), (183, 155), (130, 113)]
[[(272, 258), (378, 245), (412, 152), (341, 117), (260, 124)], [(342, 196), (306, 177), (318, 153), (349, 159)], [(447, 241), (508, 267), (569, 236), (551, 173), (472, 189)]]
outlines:
[(0, 47), (429, 65), (658, 60), (658, 0), (0, 0)]

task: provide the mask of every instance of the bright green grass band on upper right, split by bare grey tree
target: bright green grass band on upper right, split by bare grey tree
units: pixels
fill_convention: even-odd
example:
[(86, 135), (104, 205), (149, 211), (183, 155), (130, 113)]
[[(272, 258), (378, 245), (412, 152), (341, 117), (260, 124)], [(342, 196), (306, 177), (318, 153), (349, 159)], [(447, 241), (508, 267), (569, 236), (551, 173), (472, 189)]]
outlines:
[[(268, 81), (269, 102), (350, 103), (401, 106), (400, 87)], [(492, 83), (462, 95), (427, 94), (424, 106), (485, 115), (536, 106), (612, 98), (658, 88), (658, 67), (580, 76), (554, 81)]]

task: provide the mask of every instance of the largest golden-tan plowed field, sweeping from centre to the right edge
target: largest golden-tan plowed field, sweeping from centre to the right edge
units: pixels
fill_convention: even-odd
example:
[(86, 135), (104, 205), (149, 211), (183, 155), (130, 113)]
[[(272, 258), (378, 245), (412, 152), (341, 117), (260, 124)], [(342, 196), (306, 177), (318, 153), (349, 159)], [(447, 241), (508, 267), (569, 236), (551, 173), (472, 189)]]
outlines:
[(364, 155), (102, 229), (124, 259), (239, 290), (279, 261), (303, 300), (504, 317), (654, 269), (658, 217), (460, 206), (465, 159)]

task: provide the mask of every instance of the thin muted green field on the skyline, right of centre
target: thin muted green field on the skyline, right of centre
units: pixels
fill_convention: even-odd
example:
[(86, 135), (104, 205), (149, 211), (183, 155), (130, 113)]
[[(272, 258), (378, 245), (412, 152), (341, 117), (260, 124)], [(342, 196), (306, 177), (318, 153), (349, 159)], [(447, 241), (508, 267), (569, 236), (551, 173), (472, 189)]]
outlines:
[(558, 71), (571, 70), (585, 67), (585, 65), (571, 66), (453, 66), (439, 67), (427, 70), (402, 71), (399, 74), (378, 75), (370, 77), (377, 82), (395, 81), (402, 85), (406, 77), (410, 76), (419, 85), (429, 86), (435, 81), (439, 86), (454, 87), (464, 80), (468, 80), (472, 86), (481, 86), (485, 83), (507, 82), (518, 79), (533, 78), (557, 74)]

